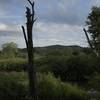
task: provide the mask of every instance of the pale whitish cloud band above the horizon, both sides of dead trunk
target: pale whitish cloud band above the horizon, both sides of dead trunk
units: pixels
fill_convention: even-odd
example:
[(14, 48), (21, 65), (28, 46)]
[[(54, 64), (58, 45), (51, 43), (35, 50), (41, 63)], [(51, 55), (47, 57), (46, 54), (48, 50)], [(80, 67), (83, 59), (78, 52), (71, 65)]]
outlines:
[[(22, 30), (19, 26), (3, 25), (0, 29), (0, 43), (14, 41), (18, 43), (19, 47), (25, 47)], [(8, 29), (9, 28), (9, 29)], [(33, 31), (34, 46), (45, 46), (53, 44), (62, 45), (86, 45), (82, 26), (45, 23), (39, 22), (34, 26)]]

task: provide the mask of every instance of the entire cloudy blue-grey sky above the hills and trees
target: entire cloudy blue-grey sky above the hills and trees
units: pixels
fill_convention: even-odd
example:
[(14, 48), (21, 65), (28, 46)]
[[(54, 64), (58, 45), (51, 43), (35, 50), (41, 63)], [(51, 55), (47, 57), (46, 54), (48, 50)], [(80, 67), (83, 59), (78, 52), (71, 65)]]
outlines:
[[(32, 1), (32, 0), (31, 0)], [(100, 0), (34, 0), (34, 46), (79, 45), (88, 46), (83, 32), (85, 21), (93, 6)], [(21, 25), (25, 26), (27, 0), (0, 0), (0, 48), (15, 42), (24, 48)]]

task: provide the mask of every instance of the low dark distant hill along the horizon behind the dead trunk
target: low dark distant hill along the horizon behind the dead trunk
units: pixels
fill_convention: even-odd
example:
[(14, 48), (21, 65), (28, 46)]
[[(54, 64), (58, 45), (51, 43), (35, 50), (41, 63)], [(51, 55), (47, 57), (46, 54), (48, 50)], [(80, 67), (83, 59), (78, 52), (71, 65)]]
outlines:
[[(92, 53), (90, 48), (80, 47), (77, 45), (64, 46), (64, 45), (51, 45), (45, 47), (35, 47), (35, 53), (40, 55), (45, 54), (77, 54), (77, 53)], [(20, 52), (26, 53), (26, 48), (20, 49)]]

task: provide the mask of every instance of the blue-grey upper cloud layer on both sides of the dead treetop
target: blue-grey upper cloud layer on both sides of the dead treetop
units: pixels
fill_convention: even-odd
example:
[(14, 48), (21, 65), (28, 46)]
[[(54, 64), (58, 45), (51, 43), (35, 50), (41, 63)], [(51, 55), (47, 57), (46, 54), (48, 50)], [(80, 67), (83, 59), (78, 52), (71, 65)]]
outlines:
[[(15, 18), (22, 20), (24, 16), (24, 6), (28, 5), (26, 0), (1, 0), (1, 12), (4, 13), (0, 18)], [(36, 16), (39, 21), (67, 23), (81, 25), (84, 24), (88, 2), (83, 0), (35, 0)], [(87, 0), (88, 1), (88, 0)], [(91, 0), (89, 0), (91, 1)], [(95, 0), (94, 0), (95, 1)], [(8, 3), (9, 2), (9, 3)], [(6, 6), (5, 6), (6, 4)], [(78, 5), (78, 6), (77, 6)], [(82, 6), (81, 6), (82, 5)], [(5, 6), (5, 7), (4, 7)], [(82, 17), (82, 16), (83, 17)], [(15, 17), (14, 17), (15, 16)]]

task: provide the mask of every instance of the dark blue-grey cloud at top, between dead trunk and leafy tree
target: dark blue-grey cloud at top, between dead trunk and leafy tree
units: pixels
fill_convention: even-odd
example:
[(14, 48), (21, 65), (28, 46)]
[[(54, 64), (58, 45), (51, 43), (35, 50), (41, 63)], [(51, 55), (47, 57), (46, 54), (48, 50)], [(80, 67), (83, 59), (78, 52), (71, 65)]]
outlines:
[(38, 8), (36, 12), (42, 21), (82, 25), (89, 6), (89, 3), (85, 2), (83, 0), (47, 0), (47, 2), (39, 0), (36, 3)]

